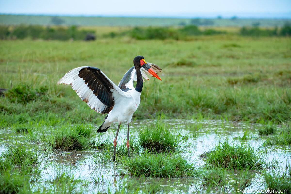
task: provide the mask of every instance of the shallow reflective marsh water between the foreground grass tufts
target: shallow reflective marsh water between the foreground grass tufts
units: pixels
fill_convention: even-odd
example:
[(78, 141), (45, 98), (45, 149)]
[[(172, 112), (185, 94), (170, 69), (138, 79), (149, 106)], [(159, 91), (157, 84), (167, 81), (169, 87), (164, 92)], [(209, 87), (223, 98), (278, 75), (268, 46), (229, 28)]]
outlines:
[[(145, 126), (155, 125), (156, 120), (137, 120), (130, 126), (130, 138), (137, 140), (137, 134)], [(263, 146), (265, 139), (258, 135), (258, 124), (248, 124), (244, 122), (228, 122), (225, 120), (162, 120), (165, 126), (174, 134), (181, 134), (183, 141), (180, 143), (181, 155), (187, 161), (196, 166), (203, 166), (203, 153), (211, 151), (216, 143), (228, 140), (231, 143), (243, 143), (255, 150), (262, 150), (262, 157), (267, 162), (267, 168), (272, 169), (272, 164), (276, 163), (275, 170), (283, 173), (289, 168), (291, 162), (290, 147)], [(99, 126), (96, 126), (96, 129)], [(117, 125), (112, 125), (106, 133), (96, 134), (96, 140), (112, 140), (115, 137)], [(161, 193), (193, 193), (203, 191), (199, 178), (139, 178), (127, 175), (122, 164), (109, 162), (103, 163), (98, 158), (97, 152), (102, 150), (85, 151), (62, 151), (44, 150), (41, 142), (29, 142), (25, 134), (17, 134), (10, 129), (0, 131), (0, 153), (8, 149), (15, 141), (23, 144), (33, 144), (38, 147), (39, 168), (41, 169), (41, 184), (53, 179), (57, 173), (68, 172), (70, 176), (81, 179), (80, 189), (85, 193), (115, 193), (129, 187), (146, 187), (157, 184)], [(126, 139), (127, 125), (122, 124), (117, 146)], [(242, 140), (241, 137), (248, 137)], [(235, 172), (239, 174), (240, 172)], [(264, 180), (261, 175), (262, 170), (253, 170), (254, 179), (248, 187), (251, 189), (263, 189)], [(231, 180), (230, 180), (231, 181)], [(37, 188), (36, 183), (35, 186)], [(137, 188), (138, 188), (137, 187)], [(231, 191), (233, 192), (233, 191)]]

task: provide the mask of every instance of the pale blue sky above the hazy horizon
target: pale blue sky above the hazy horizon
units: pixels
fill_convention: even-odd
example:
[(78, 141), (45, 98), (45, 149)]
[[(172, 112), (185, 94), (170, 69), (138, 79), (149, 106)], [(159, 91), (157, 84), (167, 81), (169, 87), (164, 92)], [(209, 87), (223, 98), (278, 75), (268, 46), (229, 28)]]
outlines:
[(180, 16), (291, 15), (291, 0), (0, 0), (1, 14)]

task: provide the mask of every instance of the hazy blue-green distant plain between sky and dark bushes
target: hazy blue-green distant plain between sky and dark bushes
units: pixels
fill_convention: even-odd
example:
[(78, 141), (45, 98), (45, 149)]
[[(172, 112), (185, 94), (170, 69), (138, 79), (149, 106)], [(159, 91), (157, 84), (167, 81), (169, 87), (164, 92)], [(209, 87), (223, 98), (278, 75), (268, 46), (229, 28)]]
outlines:
[[(189, 25), (189, 18), (143, 18), (143, 17), (68, 17), (58, 16), (59, 23), (55, 23), (54, 16), (49, 15), (0, 15), (0, 25), (77, 25), (77, 26), (178, 26)], [(290, 19), (196, 19), (194, 25), (199, 26), (283, 26)], [(193, 24), (193, 22), (192, 22)]]

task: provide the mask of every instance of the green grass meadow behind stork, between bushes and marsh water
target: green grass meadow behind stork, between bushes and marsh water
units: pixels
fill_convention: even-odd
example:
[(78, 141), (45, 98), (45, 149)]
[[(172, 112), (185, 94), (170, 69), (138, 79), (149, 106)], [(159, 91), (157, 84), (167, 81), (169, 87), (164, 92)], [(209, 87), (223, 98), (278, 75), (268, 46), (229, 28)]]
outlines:
[[(137, 54), (163, 72), (162, 81), (145, 81), (134, 118), (155, 118), (162, 111), (166, 118), (201, 114), (209, 119), (227, 116), (229, 120), (280, 124), (290, 121), (291, 114), (288, 42), (290, 38), (234, 35), (201, 36), (193, 41), (2, 41), (1, 87), (10, 88), (11, 80), (12, 88), (25, 84), (29, 91), (45, 86), (48, 90), (43, 95), (46, 98), (36, 96), (27, 103), (1, 97), (0, 118), (4, 121), (0, 124), (101, 124), (103, 115), (80, 101), (70, 86), (56, 86), (56, 82), (74, 67), (91, 65), (118, 83)], [(231, 44), (239, 47), (224, 46)], [(229, 80), (239, 81), (230, 84)]]

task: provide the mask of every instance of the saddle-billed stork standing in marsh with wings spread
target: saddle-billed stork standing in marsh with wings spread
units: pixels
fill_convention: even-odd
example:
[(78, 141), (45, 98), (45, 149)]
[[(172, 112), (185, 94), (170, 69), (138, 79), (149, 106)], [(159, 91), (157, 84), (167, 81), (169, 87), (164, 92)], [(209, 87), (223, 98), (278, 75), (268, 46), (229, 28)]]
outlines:
[[(155, 64), (146, 63), (143, 56), (136, 56), (133, 64), (134, 67), (125, 73), (118, 86), (99, 68), (90, 66), (77, 67), (66, 73), (58, 81), (58, 84), (70, 84), (79, 97), (97, 113), (108, 113), (105, 121), (97, 130), (98, 133), (106, 132), (113, 122), (118, 122), (115, 139), (113, 140), (113, 162), (115, 161), (118, 131), (123, 121), (127, 122), (126, 146), (129, 157), (129, 124), (134, 111), (139, 107), (141, 101), (143, 77), (148, 79), (147, 73), (161, 80), (157, 74), (162, 69)], [(136, 81), (135, 88), (133, 81)]]

